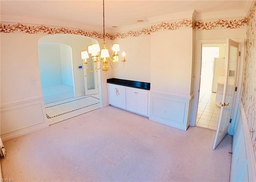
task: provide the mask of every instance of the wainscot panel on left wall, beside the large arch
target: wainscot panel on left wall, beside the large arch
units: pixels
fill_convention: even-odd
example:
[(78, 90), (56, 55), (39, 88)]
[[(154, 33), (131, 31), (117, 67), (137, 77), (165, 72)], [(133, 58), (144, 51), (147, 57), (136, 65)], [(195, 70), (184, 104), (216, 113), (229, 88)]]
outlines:
[(42, 98), (1, 104), (3, 141), (48, 127)]

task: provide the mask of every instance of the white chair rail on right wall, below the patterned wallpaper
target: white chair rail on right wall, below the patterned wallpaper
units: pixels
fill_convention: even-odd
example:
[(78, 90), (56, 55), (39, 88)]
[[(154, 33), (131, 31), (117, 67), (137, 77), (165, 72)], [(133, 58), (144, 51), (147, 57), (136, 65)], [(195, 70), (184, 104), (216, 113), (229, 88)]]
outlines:
[[(253, 143), (252, 139), (250, 137), (250, 129), (248, 126), (248, 121), (246, 119), (246, 114), (244, 112), (244, 107), (242, 104), (242, 101), (239, 102), (240, 105), (240, 112), (241, 112), (241, 118), (242, 118), (242, 125), (244, 126), (244, 138), (245, 138), (245, 146), (246, 146), (246, 153), (248, 155), (248, 163), (250, 165), (249, 174), (251, 173), (251, 181), (256, 181), (256, 156), (253, 149)], [(249, 167), (249, 166), (248, 166)]]

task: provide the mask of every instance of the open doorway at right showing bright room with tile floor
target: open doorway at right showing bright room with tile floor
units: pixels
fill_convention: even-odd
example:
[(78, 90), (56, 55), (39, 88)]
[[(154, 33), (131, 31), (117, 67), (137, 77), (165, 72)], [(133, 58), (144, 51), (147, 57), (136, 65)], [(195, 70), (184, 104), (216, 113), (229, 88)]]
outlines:
[(217, 129), (223, 92), (222, 78), (225, 63), (224, 44), (202, 44), (200, 92), (196, 126)]

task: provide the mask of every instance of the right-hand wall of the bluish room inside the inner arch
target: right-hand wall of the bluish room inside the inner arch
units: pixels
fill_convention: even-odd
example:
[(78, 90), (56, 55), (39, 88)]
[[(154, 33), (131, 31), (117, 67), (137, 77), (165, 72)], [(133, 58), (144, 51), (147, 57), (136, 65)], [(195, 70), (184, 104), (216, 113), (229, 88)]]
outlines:
[(70, 46), (60, 44), (60, 61), (62, 71), (62, 83), (73, 86), (73, 58), (72, 49)]

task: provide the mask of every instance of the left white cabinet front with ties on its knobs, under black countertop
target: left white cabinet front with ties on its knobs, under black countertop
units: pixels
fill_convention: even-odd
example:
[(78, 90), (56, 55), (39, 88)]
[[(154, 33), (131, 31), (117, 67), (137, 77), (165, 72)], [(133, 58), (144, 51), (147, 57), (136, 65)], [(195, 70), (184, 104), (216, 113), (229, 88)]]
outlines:
[(108, 104), (119, 108), (126, 108), (125, 86), (108, 84)]

